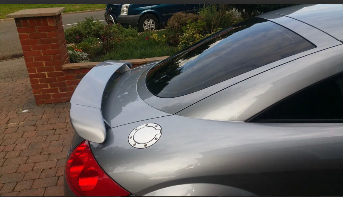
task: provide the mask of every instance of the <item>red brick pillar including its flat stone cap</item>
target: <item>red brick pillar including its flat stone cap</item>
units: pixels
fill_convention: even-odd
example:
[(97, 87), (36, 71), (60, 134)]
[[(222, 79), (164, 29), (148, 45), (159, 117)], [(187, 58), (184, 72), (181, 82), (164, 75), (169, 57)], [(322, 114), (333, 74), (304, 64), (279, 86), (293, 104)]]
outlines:
[(69, 63), (61, 13), (65, 8), (28, 9), (14, 18), (36, 104), (69, 100), (62, 66)]

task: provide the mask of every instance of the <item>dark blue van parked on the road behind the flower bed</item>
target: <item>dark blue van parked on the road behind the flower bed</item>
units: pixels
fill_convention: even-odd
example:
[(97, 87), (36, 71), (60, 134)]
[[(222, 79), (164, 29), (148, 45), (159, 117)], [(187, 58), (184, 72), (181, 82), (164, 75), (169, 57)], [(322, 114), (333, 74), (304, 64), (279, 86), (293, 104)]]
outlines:
[(158, 30), (177, 12), (197, 12), (202, 4), (106, 4), (105, 20), (138, 27), (140, 31)]

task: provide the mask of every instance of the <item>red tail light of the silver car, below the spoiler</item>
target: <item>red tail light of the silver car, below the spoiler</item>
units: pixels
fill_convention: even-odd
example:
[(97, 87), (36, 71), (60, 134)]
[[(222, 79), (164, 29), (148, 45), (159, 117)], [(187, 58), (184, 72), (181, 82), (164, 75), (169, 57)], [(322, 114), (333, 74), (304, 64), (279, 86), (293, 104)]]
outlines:
[(67, 183), (76, 196), (128, 196), (95, 161), (88, 141), (81, 142), (66, 164)]

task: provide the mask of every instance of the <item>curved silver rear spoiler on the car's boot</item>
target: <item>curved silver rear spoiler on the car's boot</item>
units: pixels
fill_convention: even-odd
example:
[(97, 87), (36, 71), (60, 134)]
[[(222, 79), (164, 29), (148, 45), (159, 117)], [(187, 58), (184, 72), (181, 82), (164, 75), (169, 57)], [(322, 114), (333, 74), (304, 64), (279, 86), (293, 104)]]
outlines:
[(106, 128), (110, 125), (101, 112), (102, 95), (111, 79), (131, 67), (125, 61), (104, 61), (82, 78), (70, 100), (70, 121), (80, 137), (96, 143), (105, 141)]

